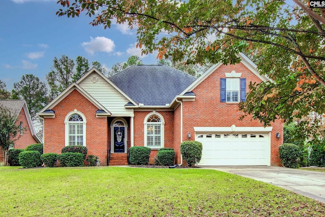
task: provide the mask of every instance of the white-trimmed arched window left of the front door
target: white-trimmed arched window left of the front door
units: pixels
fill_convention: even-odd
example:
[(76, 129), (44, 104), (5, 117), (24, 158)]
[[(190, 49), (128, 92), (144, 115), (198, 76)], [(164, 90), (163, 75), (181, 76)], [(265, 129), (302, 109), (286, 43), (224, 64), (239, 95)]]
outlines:
[(65, 145), (86, 146), (86, 117), (75, 109), (64, 118), (66, 132)]

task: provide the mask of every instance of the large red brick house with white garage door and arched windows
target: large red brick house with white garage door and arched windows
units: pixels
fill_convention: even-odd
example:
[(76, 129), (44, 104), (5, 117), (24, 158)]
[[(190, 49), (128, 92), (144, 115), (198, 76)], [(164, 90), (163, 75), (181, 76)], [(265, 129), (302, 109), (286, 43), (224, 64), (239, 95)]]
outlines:
[(180, 164), (181, 142), (196, 140), (199, 165), (280, 165), (281, 120), (266, 128), (239, 120), (249, 82), (267, 80), (239, 55), (241, 63), (216, 64), (199, 78), (167, 66), (132, 66), (110, 78), (92, 68), (40, 111), (44, 151), (85, 145), (101, 165), (123, 165), (131, 146), (150, 147), (150, 163), (171, 147)]

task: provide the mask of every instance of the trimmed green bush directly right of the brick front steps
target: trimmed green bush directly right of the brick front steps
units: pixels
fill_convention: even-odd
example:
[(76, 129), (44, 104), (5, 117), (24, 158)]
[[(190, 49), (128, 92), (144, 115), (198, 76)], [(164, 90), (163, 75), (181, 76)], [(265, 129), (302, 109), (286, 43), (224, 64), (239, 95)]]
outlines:
[(129, 163), (131, 165), (148, 165), (151, 149), (144, 146), (129, 148)]

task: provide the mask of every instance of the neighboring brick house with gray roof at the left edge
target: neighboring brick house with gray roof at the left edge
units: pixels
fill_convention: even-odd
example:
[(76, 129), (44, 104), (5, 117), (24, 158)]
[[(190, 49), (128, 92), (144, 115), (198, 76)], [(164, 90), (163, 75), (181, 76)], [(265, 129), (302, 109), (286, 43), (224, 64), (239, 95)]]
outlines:
[[(20, 126), (20, 136), (15, 141), (14, 148), (24, 149), (28, 145), (42, 143), (36, 136), (34, 126), (29, 115), (29, 111), (24, 100), (0, 100), (0, 107), (6, 108), (16, 117), (16, 124)], [(1, 149), (1, 148), (0, 148)], [(0, 150), (0, 162), (3, 162), (2, 149)]]

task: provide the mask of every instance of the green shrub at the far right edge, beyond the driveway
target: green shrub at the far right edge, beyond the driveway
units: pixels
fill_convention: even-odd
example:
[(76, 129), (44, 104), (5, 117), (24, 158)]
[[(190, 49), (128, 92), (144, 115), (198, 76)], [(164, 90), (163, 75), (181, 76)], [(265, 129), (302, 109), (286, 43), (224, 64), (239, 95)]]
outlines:
[(325, 141), (312, 141), (309, 162), (311, 166), (325, 166)]

